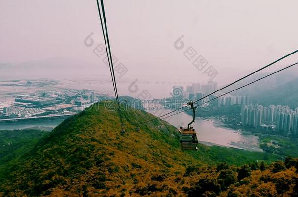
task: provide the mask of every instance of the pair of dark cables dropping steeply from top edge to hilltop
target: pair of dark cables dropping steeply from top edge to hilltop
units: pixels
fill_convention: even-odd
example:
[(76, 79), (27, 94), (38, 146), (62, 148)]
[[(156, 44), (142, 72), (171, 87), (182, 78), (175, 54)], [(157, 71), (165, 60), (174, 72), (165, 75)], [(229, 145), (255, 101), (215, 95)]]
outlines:
[[(115, 77), (115, 72), (114, 72), (112, 53), (111, 53), (111, 50), (110, 50), (109, 37), (108, 37), (108, 32), (107, 32), (104, 2), (103, 2), (103, 0), (101, 0), (101, 8), (102, 8), (103, 18), (101, 16), (100, 6), (99, 6), (98, 0), (96, 0), (96, 3), (97, 3), (98, 14), (99, 14), (99, 17), (100, 17), (101, 27), (102, 27), (102, 31), (103, 31), (103, 35), (104, 35), (108, 65), (109, 65), (109, 68), (110, 68), (111, 78), (112, 78), (112, 82), (113, 82), (113, 88), (114, 88), (114, 92), (115, 92), (115, 98), (116, 98), (116, 102), (117, 102), (117, 105), (118, 105), (118, 113), (119, 113), (120, 122), (121, 122), (121, 126), (122, 126), (123, 125), (122, 114), (121, 114), (121, 110), (120, 110), (117, 83), (116, 83), (116, 77)], [(103, 25), (103, 21), (104, 21), (105, 25)], [(105, 26), (105, 31), (104, 31), (104, 26)]]

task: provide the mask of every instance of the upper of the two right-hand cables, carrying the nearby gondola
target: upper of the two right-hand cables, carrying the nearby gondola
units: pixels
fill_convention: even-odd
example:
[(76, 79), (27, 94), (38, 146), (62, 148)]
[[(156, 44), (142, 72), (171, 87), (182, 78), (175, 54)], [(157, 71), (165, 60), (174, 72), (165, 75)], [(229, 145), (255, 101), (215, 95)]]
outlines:
[[(271, 66), (271, 65), (273, 65), (273, 64), (275, 64), (275, 63), (277, 63), (277, 62), (279, 62), (280, 60), (285, 59), (285, 58), (287, 58), (288, 56), (290, 56), (290, 55), (292, 55), (292, 54), (295, 54), (295, 53), (297, 53), (297, 52), (298, 52), (298, 50), (293, 51), (292, 53), (287, 54), (287, 55), (285, 55), (285, 56), (283, 56), (283, 57), (281, 57), (281, 58), (275, 60), (274, 62), (272, 62), (272, 63), (270, 63), (270, 64), (268, 64), (268, 65), (266, 65), (266, 66), (264, 66), (264, 67), (262, 67), (262, 68), (260, 68), (260, 69), (258, 69), (258, 70), (256, 70), (255, 72), (251, 72), (250, 74), (248, 74), (248, 75), (246, 75), (246, 76), (244, 76), (244, 77), (242, 77), (242, 78), (240, 78), (240, 79), (238, 79), (238, 80), (236, 80), (236, 81), (234, 81), (234, 82), (232, 82), (232, 83), (230, 83), (230, 84), (224, 86), (223, 88), (221, 88), (221, 89), (219, 89), (219, 90), (216, 90), (216, 91), (214, 91), (214, 92), (212, 92), (212, 93), (210, 93), (210, 94), (204, 96), (203, 98), (194, 101), (193, 103), (196, 103), (196, 102), (198, 102), (198, 101), (201, 101), (201, 100), (203, 100), (204, 98), (206, 98), (206, 97), (208, 97), (208, 96), (210, 96), (210, 95), (212, 95), (212, 94), (214, 94), (214, 93), (216, 93), (216, 92), (218, 92), (218, 91), (220, 91), (220, 90), (223, 90), (223, 89), (225, 89), (225, 88), (228, 88), (229, 86), (232, 86), (233, 84), (235, 84), (235, 83), (237, 83), (237, 82), (239, 82), (239, 81), (241, 81), (241, 80), (243, 80), (243, 79), (245, 79), (245, 78), (247, 78), (247, 77), (249, 77), (249, 76), (255, 74), (256, 72), (259, 72), (259, 71), (261, 71), (261, 70), (263, 70), (263, 69), (265, 69), (265, 68), (267, 68), (267, 67), (269, 67), (269, 66)], [(164, 116), (166, 116), (166, 115), (169, 115), (169, 114), (171, 114), (171, 113), (173, 113), (173, 112), (175, 112), (175, 111), (178, 111), (178, 110), (183, 109), (183, 108), (188, 107), (188, 106), (189, 106), (189, 105), (180, 107), (180, 108), (175, 109), (175, 110), (173, 110), (173, 111), (171, 111), (171, 112), (169, 112), (169, 113), (166, 113), (166, 114), (164, 114), (164, 115), (162, 115), (162, 116), (153, 118), (153, 119), (151, 119), (151, 120), (149, 120), (149, 121), (145, 121), (145, 122), (143, 122), (143, 123), (147, 123), (147, 122), (150, 122), (150, 121), (159, 119), (159, 118), (161, 118), (161, 117), (164, 117)]]

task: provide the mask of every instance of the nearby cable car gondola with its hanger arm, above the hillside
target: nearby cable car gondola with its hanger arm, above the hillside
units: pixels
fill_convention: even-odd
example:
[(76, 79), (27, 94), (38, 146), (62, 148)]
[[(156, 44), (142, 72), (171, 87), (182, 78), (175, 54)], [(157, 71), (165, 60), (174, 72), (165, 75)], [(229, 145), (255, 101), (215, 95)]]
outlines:
[(193, 101), (188, 102), (188, 105), (191, 106), (193, 110), (193, 119), (187, 125), (187, 128), (183, 128), (182, 126), (178, 129), (180, 133), (180, 144), (182, 150), (196, 150), (198, 145), (198, 139), (196, 137), (195, 129), (191, 126), (195, 119), (195, 109), (193, 107)]

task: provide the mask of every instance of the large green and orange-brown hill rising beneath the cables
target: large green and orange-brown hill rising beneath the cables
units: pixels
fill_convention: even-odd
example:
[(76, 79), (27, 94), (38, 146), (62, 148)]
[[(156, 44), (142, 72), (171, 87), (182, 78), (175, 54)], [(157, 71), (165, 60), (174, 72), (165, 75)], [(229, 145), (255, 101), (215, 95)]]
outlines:
[[(251, 174), (245, 174), (246, 171), (251, 173), (251, 170), (260, 168), (255, 163), (256, 160), (269, 162), (276, 159), (264, 153), (204, 145), (199, 145), (197, 151), (181, 151), (175, 127), (161, 120), (140, 124), (154, 116), (131, 108), (123, 112), (126, 132), (121, 134), (119, 117), (115, 111), (106, 110), (107, 105), (115, 103), (100, 102), (66, 119), (50, 134), (35, 143), (34, 147), (22, 152), (18, 160), (12, 160), (14, 162), (6, 165), (6, 174), (2, 174), (0, 179), (1, 194), (233, 194), (237, 188), (241, 189), (243, 186), (244, 183), (240, 184), (240, 181), (250, 177)], [(137, 132), (135, 128), (139, 124), (140, 131)], [(234, 167), (220, 164), (222, 162), (238, 166), (244, 163), (249, 165)], [(265, 167), (263, 168), (265, 170)], [(241, 169), (244, 171), (244, 177), (241, 177)], [(293, 165), (286, 173), (291, 174), (289, 179), (292, 185), (288, 190), (291, 189), (293, 192)], [(263, 174), (263, 171), (259, 171), (259, 174)], [(261, 175), (258, 176), (254, 181), (260, 181)], [(267, 182), (270, 182), (269, 180), (270, 177)], [(247, 180), (246, 187), (253, 187), (249, 184), (251, 182)], [(233, 191), (230, 185), (233, 186)]]

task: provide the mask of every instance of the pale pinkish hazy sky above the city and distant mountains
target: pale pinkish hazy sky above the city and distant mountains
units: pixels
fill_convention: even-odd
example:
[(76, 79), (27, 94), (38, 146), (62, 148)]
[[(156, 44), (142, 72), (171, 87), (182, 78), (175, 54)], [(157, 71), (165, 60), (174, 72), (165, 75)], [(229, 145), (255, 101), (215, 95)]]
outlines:
[[(190, 46), (221, 83), (298, 48), (297, 0), (105, 0), (105, 7), (112, 53), (131, 79), (208, 78), (183, 55)], [(95, 0), (1, 0), (0, 35), (0, 63), (65, 57), (98, 63), (109, 74), (92, 52), (103, 43)], [(185, 47), (177, 50), (181, 35)]]

